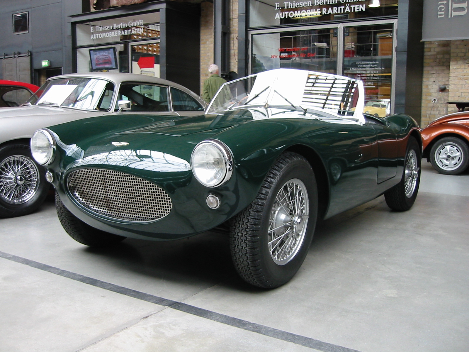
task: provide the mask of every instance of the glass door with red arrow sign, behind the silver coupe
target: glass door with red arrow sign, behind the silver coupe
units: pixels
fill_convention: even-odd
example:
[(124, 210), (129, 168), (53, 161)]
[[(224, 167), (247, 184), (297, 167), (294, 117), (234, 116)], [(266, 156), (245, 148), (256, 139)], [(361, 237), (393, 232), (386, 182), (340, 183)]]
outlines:
[(159, 40), (131, 43), (129, 58), (131, 73), (159, 77)]

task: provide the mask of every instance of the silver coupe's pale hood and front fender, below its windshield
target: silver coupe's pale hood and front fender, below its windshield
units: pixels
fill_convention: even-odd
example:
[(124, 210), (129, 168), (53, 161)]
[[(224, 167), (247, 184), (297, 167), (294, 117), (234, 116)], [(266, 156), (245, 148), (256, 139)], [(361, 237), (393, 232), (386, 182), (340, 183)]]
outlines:
[(105, 113), (100, 111), (52, 106), (1, 107), (0, 143), (19, 138), (31, 138), (36, 130), (46, 126), (103, 114)]

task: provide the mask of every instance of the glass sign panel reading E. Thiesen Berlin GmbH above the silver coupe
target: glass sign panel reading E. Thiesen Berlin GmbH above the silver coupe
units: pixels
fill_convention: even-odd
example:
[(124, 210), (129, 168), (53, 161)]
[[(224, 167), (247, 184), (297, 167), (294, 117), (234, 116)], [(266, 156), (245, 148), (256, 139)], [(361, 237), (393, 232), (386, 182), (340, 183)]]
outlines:
[(76, 46), (159, 38), (159, 12), (76, 25)]

